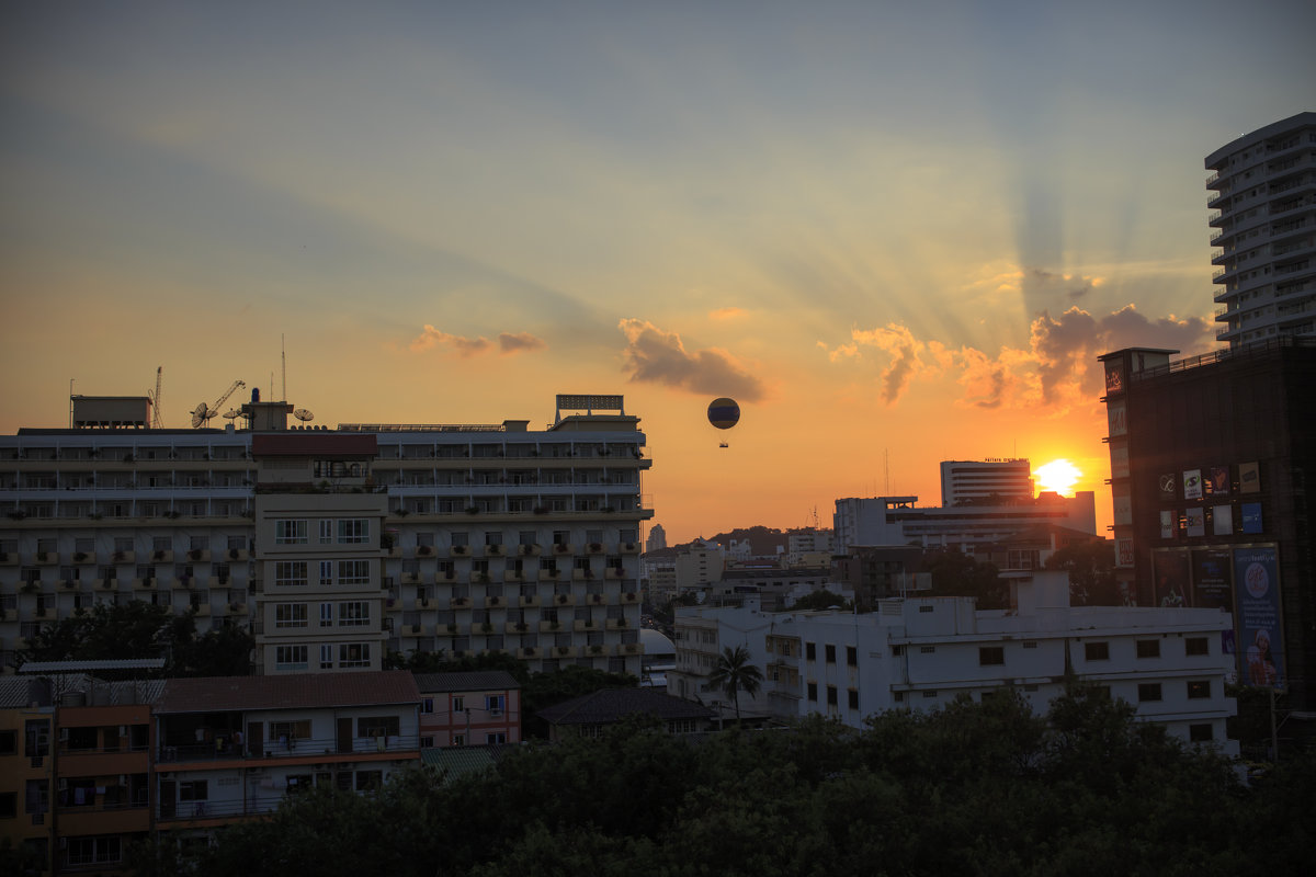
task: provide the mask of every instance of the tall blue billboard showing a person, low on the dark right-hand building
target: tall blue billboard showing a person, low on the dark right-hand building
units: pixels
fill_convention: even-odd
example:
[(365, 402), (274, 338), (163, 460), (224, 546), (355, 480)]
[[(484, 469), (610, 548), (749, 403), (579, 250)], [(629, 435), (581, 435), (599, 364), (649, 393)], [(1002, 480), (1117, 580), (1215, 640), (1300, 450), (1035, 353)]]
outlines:
[(1284, 648), (1279, 627), (1277, 551), (1274, 547), (1236, 548), (1233, 561), (1244, 681), (1282, 686)]

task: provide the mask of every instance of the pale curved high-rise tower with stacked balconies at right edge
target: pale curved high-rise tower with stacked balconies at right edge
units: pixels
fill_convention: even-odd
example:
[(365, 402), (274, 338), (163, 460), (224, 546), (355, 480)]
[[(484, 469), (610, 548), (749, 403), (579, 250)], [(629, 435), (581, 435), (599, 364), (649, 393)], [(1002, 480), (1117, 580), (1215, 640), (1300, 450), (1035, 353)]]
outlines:
[(1216, 338), (1238, 347), (1316, 334), (1316, 113), (1245, 134), (1205, 167)]

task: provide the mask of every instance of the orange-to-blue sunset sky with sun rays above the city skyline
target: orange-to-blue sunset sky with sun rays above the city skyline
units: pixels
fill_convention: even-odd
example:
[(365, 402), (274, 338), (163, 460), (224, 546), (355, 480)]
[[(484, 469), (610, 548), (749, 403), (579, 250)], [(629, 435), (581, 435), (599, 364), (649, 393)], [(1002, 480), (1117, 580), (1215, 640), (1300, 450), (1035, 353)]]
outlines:
[(1316, 109), (1309, 1), (0, 16), (0, 429), (284, 335), (329, 426), (624, 393), (671, 542), (1016, 455), (1104, 527), (1095, 358), (1217, 347), (1203, 156)]

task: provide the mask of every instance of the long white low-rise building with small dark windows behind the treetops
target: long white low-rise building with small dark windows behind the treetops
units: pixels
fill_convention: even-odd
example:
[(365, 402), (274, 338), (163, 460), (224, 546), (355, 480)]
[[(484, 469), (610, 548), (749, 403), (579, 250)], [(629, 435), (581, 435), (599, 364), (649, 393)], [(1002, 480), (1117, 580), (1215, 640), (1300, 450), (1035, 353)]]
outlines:
[(882, 600), (862, 615), (778, 615), (763, 643), (769, 707), (783, 719), (819, 713), (862, 727), (875, 713), (936, 709), (1009, 685), (1042, 713), (1071, 672), (1136, 705), (1140, 719), (1237, 755), (1225, 738), (1236, 710), (1224, 689), (1234, 672), (1223, 651), (1225, 613), (1070, 607), (1066, 573), (1016, 581), (1013, 593), (1008, 611), (979, 611), (969, 597), (923, 597)]

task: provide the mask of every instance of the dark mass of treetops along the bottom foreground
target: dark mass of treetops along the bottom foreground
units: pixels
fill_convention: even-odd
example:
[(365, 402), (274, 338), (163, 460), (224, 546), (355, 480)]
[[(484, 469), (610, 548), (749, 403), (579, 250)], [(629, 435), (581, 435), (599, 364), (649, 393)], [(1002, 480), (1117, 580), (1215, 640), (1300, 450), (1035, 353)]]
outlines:
[(1211, 751), (1073, 688), (1045, 717), (1008, 690), (863, 731), (808, 721), (700, 743), (636, 722), (372, 797), (315, 789), (145, 876), (1280, 874), (1313, 838), (1316, 760), (1253, 788)]

